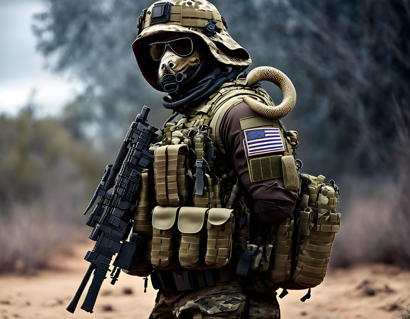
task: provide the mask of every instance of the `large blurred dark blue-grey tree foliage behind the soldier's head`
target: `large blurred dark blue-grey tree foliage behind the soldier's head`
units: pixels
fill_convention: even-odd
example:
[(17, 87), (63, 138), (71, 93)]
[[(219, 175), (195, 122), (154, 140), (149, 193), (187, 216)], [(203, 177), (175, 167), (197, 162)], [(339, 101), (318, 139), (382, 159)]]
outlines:
[[(162, 111), (151, 117), (161, 125), (163, 93), (146, 83), (131, 50), (137, 18), (152, 1), (46, 2), (33, 26), (38, 50), (55, 58), (55, 71), (87, 84), (75, 125), (118, 141), (144, 104)], [(301, 133), (299, 157), (310, 173), (391, 171), (383, 157), (395, 143), (394, 100), (400, 108), (410, 100), (408, 0), (212, 2), (253, 66), (275, 66), (294, 82), (298, 102), (285, 124)]]

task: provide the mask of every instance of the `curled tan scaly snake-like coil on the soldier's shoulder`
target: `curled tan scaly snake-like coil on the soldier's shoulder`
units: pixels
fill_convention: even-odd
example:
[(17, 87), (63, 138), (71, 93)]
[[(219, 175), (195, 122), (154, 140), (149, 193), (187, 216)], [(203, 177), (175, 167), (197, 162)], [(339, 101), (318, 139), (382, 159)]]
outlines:
[(244, 96), (244, 102), (255, 112), (269, 118), (282, 118), (292, 111), (296, 103), (296, 91), (289, 77), (282, 71), (271, 66), (254, 68), (246, 77), (246, 86), (250, 87), (259, 81), (269, 81), (276, 84), (283, 94), (282, 103), (276, 106), (265, 105), (249, 96)]

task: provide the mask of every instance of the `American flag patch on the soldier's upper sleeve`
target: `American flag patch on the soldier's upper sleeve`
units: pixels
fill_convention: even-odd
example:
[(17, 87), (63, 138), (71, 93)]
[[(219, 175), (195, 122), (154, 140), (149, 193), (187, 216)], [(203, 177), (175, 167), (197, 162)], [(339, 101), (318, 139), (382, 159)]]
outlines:
[(279, 128), (250, 128), (244, 132), (248, 156), (285, 151)]

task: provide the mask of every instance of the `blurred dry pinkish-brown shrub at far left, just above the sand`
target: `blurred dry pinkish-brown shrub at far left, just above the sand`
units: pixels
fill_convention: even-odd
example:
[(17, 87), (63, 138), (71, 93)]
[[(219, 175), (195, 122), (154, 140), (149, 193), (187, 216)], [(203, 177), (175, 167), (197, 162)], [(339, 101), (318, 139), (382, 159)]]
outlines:
[(0, 224), (0, 272), (33, 274), (36, 269), (46, 268), (51, 254), (70, 241), (75, 231), (73, 223), (63, 216), (73, 213), (70, 206), (44, 201), (9, 205), (9, 216)]

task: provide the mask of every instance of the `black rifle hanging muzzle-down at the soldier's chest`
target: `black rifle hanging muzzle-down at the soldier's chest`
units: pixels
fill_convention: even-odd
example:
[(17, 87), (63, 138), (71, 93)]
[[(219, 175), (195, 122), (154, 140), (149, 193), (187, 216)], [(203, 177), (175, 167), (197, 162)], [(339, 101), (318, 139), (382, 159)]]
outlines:
[[(98, 292), (107, 271), (110, 271), (109, 265), (116, 253), (118, 255), (114, 260), (114, 269), (111, 273), (113, 285), (118, 280), (121, 269), (131, 270), (137, 261), (138, 248), (143, 245), (144, 240), (137, 232), (132, 233), (130, 241), (126, 239), (134, 223), (134, 211), (142, 186), (141, 174), (150, 168), (154, 159), (154, 153), (148, 149), (157, 138), (155, 134), (157, 128), (147, 123), (149, 111), (150, 108), (144, 106), (141, 114), (138, 114), (132, 122), (114, 164), (105, 168), (103, 178), (84, 212), (84, 215), (87, 214), (99, 198), (85, 223), (93, 228), (89, 239), (96, 244), (84, 257), (90, 265), (67, 307), (71, 313), (74, 313), (85, 286), (94, 272), (87, 296), (81, 306), (82, 310), (93, 312)], [(107, 191), (113, 186), (112, 193), (108, 193)]]

